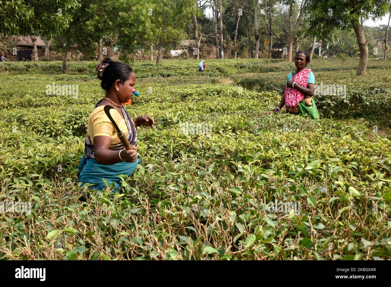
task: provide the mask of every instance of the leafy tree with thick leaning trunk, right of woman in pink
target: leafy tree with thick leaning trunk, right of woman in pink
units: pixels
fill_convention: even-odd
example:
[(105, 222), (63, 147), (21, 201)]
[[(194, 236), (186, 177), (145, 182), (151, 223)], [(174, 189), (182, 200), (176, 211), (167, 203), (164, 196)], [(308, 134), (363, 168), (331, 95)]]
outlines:
[(368, 43), (362, 27), (362, 19), (375, 20), (389, 11), (388, 0), (308, 0), (305, 6), (310, 29), (323, 24), (321, 34), (325, 39), (335, 28), (353, 27), (360, 49), (357, 76), (365, 75), (368, 65)]

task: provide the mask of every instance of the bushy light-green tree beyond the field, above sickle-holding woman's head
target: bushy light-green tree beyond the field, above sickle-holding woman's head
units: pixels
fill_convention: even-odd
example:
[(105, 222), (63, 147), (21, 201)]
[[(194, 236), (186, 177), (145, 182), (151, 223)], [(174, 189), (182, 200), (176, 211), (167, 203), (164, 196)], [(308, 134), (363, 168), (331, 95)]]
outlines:
[(117, 3), (118, 45), (124, 60), (132, 60), (136, 48), (154, 45), (158, 50), (156, 64), (160, 64), (163, 47), (172, 48), (185, 39), (185, 25), (195, 15), (194, 0), (119, 0)]

